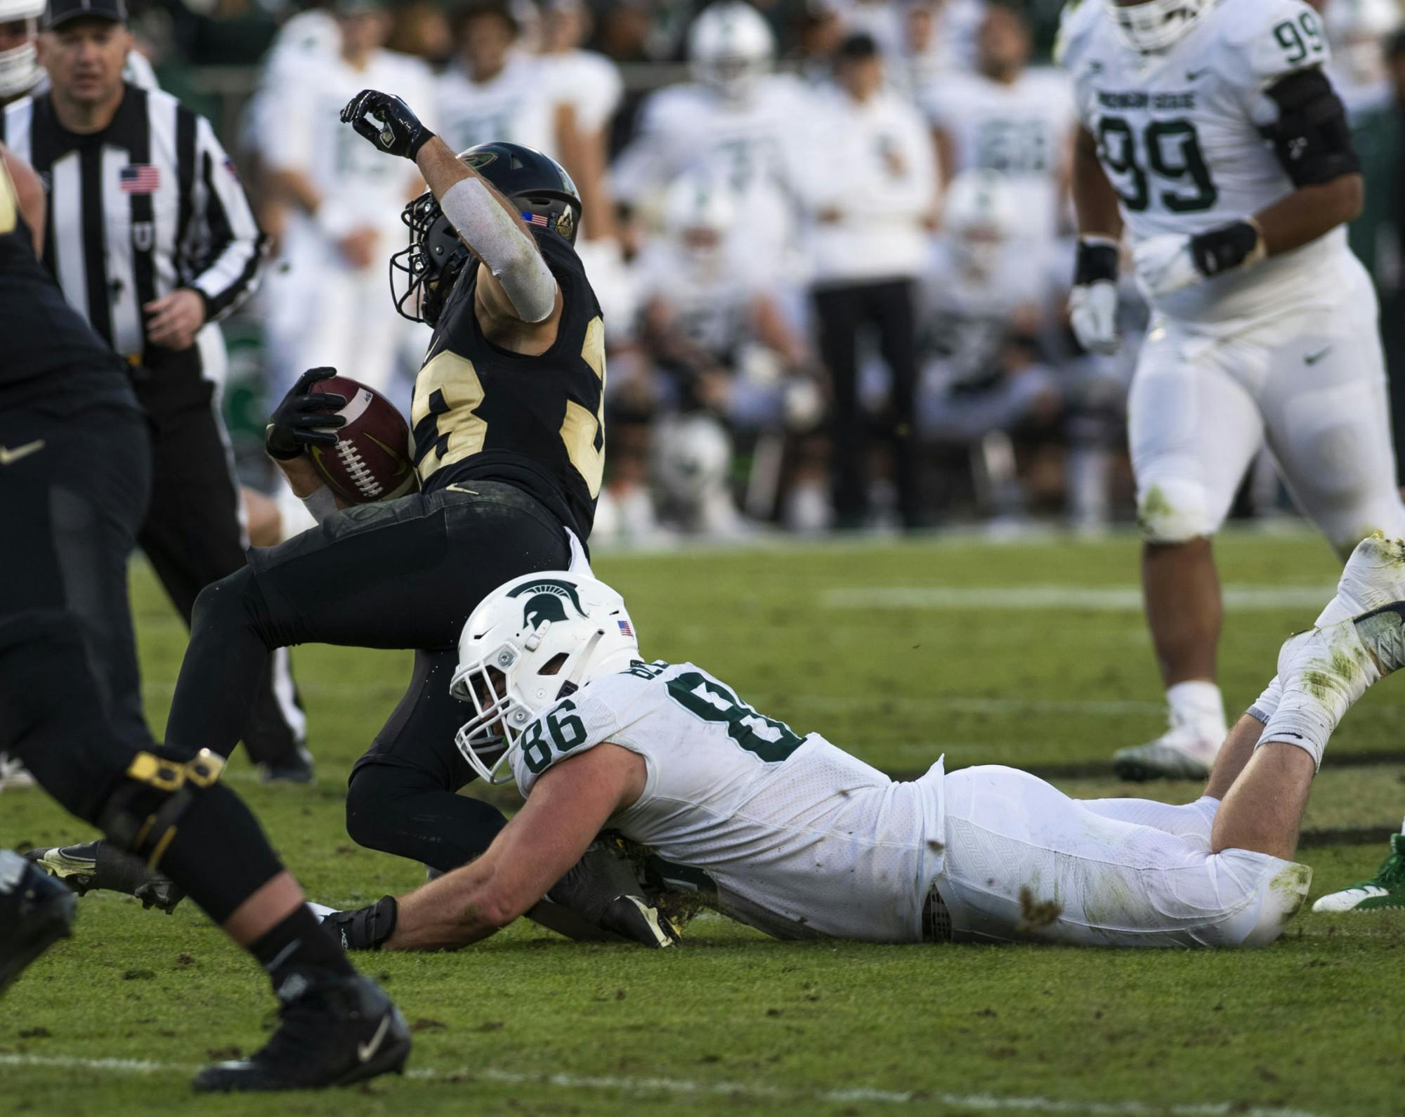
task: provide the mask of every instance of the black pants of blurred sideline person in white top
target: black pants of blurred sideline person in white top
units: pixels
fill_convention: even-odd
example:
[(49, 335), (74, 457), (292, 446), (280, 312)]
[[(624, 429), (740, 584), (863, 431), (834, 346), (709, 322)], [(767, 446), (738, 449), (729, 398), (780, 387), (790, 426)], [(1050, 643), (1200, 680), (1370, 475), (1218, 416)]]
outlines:
[(888, 365), (888, 409), (878, 424), (892, 448), (894, 485), (903, 524), (922, 520), (917, 495), (916, 320), (910, 280), (818, 287), (812, 292), (819, 326), (819, 355), (833, 384), (830, 478), (835, 516), (857, 527), (868, 514), (870, 420), (858, 405), (858, 334), (878, 333), (878, 351)]

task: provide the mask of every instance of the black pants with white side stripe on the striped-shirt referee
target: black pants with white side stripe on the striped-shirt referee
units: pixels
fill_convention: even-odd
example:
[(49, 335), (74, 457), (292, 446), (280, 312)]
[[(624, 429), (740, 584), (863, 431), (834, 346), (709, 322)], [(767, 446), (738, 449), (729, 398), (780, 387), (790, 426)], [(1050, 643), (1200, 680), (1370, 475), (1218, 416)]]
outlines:
[[(166, 353), (148, 364), (138, 399), (153, 427), (152, 499), (136, 541), (188, 625), (197, 594), (244, 565), (239, 485), (215, 410), (215, 385), (202, 378), (198, 351)], [(244, 717), (235, 739), (243, 738), (254, 763), (295, 756), (303, 714), (287, 652), (266, 658)]]

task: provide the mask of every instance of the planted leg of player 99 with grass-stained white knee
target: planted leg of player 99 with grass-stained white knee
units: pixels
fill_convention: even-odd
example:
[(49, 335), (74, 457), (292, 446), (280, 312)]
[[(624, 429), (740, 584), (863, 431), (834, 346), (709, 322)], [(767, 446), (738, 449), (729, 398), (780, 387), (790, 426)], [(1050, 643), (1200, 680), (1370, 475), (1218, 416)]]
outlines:
[(1221, 603), (1210, 538), (1263, 438), (1253, 398), (1227, 371), (1231, 343), (1173, 326), (1148, 334), (1128, 402), (1142, 528), (1142, 593), (1170, 726), (1114, 756), (1118, 776), (1204, 778), (1225, 735), (1215, 683)]

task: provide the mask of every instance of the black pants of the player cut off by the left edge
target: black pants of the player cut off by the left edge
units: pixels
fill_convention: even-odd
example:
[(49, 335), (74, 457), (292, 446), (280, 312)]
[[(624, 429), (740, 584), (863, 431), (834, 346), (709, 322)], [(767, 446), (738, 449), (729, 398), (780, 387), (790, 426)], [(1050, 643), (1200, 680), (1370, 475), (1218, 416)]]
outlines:
[[(126, 597), (149, 469), (135, 407), (0, 403), (0, 750), (94, 825), (132, 755), (160, 752)], [(216, 923), (281, 868), (223, 784), (192, 799), (160, 867)]]

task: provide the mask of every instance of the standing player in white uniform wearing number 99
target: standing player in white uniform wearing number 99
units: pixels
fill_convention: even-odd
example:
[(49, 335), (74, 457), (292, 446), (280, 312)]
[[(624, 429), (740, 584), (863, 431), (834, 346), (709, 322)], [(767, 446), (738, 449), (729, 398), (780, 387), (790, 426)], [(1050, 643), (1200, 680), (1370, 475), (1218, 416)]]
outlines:
[(1264, 441), (1339, 555), (1405, 531), (1375, 294), (1343, 228), (1361, 176), (1301, 0), (1075, 0), (1057, 53), (1083, 124), (1073, 329), (1117, 347), (1124, 232), (1154, 311), (1128, 427), (1170, 726), (1114, 766), (1197, 777), (1225, 729), (1210, 538)]

